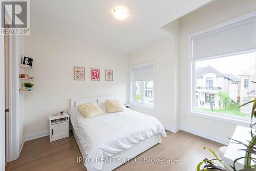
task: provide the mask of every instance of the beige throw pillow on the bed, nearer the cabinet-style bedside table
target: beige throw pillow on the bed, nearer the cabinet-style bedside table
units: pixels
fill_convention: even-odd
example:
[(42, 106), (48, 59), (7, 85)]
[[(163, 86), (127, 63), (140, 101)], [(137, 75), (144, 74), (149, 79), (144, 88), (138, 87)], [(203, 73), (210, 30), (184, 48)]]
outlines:
[(78, 111), (80, 114), (86, 118), (91, 118), (94, 116), (102, 115), (104, 112), (96, 103), (84, 103), (78, 105)]

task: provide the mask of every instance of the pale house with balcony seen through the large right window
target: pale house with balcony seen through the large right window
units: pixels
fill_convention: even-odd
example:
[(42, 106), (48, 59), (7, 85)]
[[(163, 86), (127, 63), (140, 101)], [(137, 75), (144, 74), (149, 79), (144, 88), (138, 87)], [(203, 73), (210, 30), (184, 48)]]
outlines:
[(215, 109), (221, 108), (219, 92), (229, 93), (230, 99), (239, 102), (240, 78), (233, 74), (224, 74), (211, 66), (201, 67), (196, 70), (196, 106), (210, 109), (210, 104)]

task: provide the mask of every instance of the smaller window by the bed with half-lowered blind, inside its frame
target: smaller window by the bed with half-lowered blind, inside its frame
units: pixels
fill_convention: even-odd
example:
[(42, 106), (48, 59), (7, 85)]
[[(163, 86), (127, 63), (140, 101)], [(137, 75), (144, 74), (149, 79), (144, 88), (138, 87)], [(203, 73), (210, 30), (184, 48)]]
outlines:
[(132, 104), (154, 108), (154, 63), (131, 67)]

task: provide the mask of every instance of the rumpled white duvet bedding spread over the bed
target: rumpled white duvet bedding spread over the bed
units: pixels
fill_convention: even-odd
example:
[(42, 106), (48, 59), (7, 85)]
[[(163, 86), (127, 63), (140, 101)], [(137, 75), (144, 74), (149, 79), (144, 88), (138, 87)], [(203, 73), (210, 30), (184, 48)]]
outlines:
[[(130, 148), (153, 135), (166, 137), (154, 117), (124, 108), (123, 112), (85, 118), (77, 108), (69, 111), (73, 129), (87, 158), (106, 158)], [(102, 162), (84, 162), (88, 171), (101, 170)]]

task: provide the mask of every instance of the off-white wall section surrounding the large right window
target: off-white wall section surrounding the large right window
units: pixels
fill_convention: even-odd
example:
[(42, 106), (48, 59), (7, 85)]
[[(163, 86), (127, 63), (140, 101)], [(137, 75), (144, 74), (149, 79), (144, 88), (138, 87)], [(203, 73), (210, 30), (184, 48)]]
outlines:
[(211, 26), (226, 22), (256, 10), (256, 1), (226, 0), (216, 1), (180, 19), (180, 124), (186, 131), (198, 133), (212, 139), (226, 141), (236, 127), (234, 124), (187, 115), (187, 38), (188, 35)]

